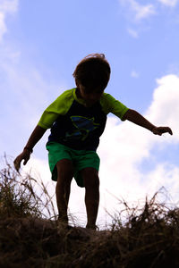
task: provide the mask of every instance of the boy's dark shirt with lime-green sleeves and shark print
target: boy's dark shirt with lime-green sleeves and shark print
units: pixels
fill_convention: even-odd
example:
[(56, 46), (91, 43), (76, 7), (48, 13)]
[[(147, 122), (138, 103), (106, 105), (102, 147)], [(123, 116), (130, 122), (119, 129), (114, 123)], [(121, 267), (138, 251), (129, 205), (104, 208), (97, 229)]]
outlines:
[(38, 126), (51, 129), (48, 141), (76, 150), (96, 151), (105, 130), (107, 114), (114, 113), (123, 121), (128, 108), (113, 96), (103, 93), (91, 107), (76, 96), (76, 88), (64, 91), (42, 114)]

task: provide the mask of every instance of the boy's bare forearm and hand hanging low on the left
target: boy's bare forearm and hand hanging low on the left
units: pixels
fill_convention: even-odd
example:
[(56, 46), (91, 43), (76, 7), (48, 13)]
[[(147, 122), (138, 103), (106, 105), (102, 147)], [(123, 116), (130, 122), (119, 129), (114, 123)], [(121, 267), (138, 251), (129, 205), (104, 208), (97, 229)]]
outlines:
[(38, 140), (42, 138), (44, 133), (46, 132), (46, 129), (43, 129), (37, 125), (37, 127), (33, 130), (33, 132), (30, 135), (30, 138), (24, 147), (23, 151), (20, 155), (18, 155), (15, 160), (13, 161), (15, 169), (19, 171), (21, 167), (21, 161), (24, 160), (23, 164), (26, 164), (30, 159), (30, 154), (33, 151), (33, 147), (38, 143)]

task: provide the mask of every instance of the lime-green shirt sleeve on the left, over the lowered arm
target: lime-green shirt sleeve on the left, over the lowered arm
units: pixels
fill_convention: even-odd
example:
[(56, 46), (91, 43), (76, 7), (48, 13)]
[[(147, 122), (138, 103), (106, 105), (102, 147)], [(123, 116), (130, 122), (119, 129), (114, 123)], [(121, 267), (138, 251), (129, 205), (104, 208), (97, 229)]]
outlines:
[(64, 115), (68, 112), (72, 101), (72, 89), (64, 91), (64, 93), (58, 96), (55, 101), (47, 107), (44, 113), (42, 113), (38, 121), (38, 126), (46, 130), (50, 129), (59, 115)]

